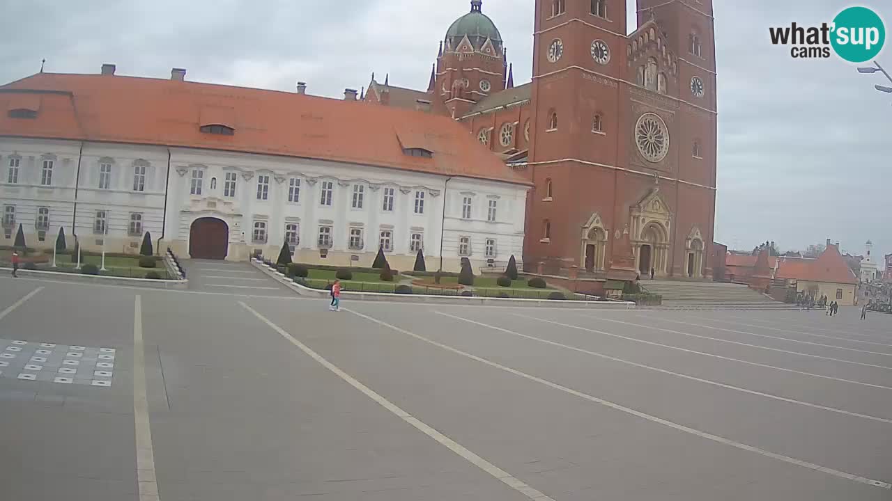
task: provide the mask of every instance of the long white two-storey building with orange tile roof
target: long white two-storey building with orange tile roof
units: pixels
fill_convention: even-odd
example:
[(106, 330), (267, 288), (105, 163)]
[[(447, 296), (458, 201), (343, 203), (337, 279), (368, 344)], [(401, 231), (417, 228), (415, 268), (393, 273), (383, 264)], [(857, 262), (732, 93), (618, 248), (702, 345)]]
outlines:
[[(3, 240), (59, 227), (134, 252), (145, 232), (183, 258), (410, 269), (521, 260), (528, 184), (445, 117), (170, 80), (37, 74), (0, 87)], [(104, 242), (103, 242), (104, 241)]]

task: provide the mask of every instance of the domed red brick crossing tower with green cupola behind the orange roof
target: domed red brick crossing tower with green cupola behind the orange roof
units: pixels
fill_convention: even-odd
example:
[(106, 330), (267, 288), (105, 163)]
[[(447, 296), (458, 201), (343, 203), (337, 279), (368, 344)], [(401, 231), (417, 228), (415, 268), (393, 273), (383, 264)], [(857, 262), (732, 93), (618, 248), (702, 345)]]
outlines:
[(483, 13), (482, 0), (452, 23), (437, 56), (433, 94), (453, 117), (483, 97), (505, 89), (505, 48), (499, 29)]

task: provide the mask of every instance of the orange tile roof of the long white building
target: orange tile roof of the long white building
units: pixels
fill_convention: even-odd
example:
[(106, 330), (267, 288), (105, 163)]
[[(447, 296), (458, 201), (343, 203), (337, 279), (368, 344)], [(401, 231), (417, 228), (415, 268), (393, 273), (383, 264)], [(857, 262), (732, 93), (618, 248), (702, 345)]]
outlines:
[[(34, 106), (34, 96), (37, 118), (3, 113), (0, 136), (285, 155), (529, 185), (465, 127), (431, 113), (246, 87), (54, 73), (0, 86), (0, 110), (21, 101)], [(211, 121), (235, 135), (199, 131)], [(404, 154), (398, 135), (424, 138), (433, 158)]]

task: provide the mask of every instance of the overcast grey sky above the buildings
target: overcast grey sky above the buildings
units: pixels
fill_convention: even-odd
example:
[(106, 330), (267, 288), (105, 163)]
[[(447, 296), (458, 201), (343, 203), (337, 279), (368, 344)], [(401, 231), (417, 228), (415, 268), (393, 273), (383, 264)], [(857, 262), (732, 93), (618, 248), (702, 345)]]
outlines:
[[(568, 0), (577, 1), (577, 0)], [(708, 0), (704, 0), (708, 1)], [(628, 0), (629, 30), (634, 0)], [(774, 240), (804, 250), (831, 238), (842, 249), (892, 252), (892, 96), (888, 84), (838, 60), (794, 60), (769, 26), (832, 21), (847, 0), (715, 2), (719, 144), (715, 238), (752, 249)], [(861, 0), (888, 20), (888, 0)], [(426, 88), (437, 44), (469, 0), (0, 0), (0, 81), (47, 71), (98, 72), (293, 90), (336, 97), (390, 73)], [(484, 0), (515, 82), (532, 73), (533, 3)], [(887, 45), (892, 44), (889, 42)], [(880, 64), (892, 70), (887, 48)]]

